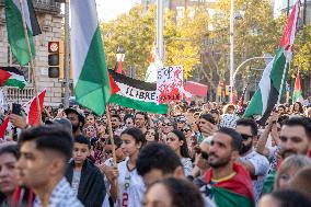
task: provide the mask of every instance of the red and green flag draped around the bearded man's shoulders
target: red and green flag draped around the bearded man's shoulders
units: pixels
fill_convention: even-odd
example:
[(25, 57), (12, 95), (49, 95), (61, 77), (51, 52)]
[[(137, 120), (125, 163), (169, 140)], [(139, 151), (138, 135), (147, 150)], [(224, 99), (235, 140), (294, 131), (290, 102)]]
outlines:
[(254, 207), (253, 184), (249, 172), (240, 164), (233, 164), (237, 173), (232, 179), (215, 183), (212, 170), (205, 175), (211, 198), (218, 207)]

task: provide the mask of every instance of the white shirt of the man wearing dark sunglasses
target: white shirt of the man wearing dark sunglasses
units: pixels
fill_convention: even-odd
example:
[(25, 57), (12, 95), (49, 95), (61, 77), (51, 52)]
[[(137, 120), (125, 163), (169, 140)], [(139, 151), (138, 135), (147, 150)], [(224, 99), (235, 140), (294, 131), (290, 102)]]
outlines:
[(257, 203), (262, 194), (266, 174), (268, 173), (269, 170), (269, 162), (266, 157), (257, 153), (256, 151), (252, 151), (251, 153), (241, 157), (241, 160), (250, 161), (255, 169), (254, 175), (257, 177), (256, 180), (253, 180), (253, 189), (255, 195), (255, 202)]

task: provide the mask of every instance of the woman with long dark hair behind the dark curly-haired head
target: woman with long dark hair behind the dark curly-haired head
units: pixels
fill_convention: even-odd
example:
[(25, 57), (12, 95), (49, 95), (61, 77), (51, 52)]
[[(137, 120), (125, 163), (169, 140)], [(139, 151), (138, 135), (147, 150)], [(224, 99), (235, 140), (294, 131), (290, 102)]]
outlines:
[(186, 176), (192, 174), (193, 163), (187, 147), (187, 141), (184, 134), (180, 130), (174, 129), (168, 134), (166, 143), (170, 146), (181, 158), (184, 166), (184, 173)]

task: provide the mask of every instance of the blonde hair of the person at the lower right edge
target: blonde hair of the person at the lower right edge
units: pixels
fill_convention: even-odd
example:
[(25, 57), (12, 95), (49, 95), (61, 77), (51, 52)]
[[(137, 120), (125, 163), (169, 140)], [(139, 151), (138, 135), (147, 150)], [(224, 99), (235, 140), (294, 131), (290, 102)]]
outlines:
[(303, 168), (311, 168), (311, 160), (310, 158), (306, 156), (290, 156), (286, 158), (280, 164), (280, 168), (276, 174), (274, 189), (279, 188), (280, 175), (289, 171), (292, 168), (296, 169), (296, 172), (298, 172), (298, 170), (303, 169)]

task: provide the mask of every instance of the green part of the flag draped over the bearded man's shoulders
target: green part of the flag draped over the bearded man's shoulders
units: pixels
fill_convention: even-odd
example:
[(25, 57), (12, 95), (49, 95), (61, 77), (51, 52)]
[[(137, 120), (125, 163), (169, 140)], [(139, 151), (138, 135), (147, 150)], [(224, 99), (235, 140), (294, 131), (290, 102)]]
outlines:
[(254, 207), (254, 202), (222, 187), (211, 187), (215, 203), (218, 207)]

